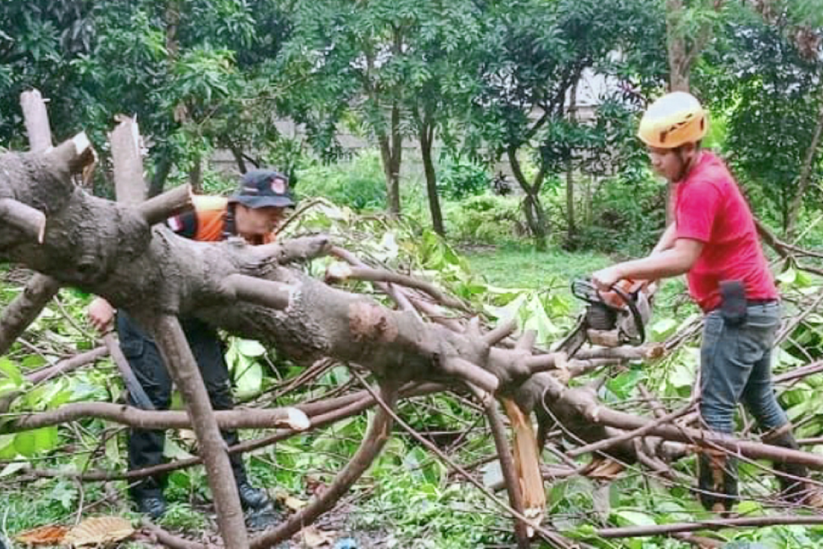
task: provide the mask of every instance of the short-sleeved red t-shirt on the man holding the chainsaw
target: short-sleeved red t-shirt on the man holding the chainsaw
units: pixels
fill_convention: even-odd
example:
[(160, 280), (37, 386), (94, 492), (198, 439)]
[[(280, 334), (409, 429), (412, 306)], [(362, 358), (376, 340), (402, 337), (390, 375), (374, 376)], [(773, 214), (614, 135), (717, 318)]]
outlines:
[(777, 299), (751, 210), (717, 156), (704, 151), (677, 185), (676, 212), (677, 238), (704, 243), (688, 274), (689, 293), (700, 309), (718, 308), (721, 281), (742, 281), (750, 300)]

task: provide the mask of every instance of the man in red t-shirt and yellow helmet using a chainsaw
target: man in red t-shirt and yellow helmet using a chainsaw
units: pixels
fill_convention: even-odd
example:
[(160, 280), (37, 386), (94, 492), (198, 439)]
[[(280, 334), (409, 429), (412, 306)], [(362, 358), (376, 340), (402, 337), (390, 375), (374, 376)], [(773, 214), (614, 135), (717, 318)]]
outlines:
[[(734, 431), (737, 402), (754, 416), (769, 444), (797, 449), (792, 427), (771, 383), (771, 352), (780, 323), (779, 294), (755, 221), (732, 174), (717, 156), (700, 149), (707, 130), (700, 102), (685, 92), (655, 101), (640, 122), (653, 169), (675, 186), (674, 221), (647, 258), (595, 272), (606, 291), (622, 278), (658, 280), (687, 273), (689, 293), (705, 314), (700, 348), (700, 416), (709, 429)], [(775, 470), (807, 477), (807, 468), (776, 463)], [(731, 510), (737, 499), (732, 455), (704, 449), (699, 457), (700, 501)], [(783, 496), (823, 505), (807, 482), (779, 475)]]

